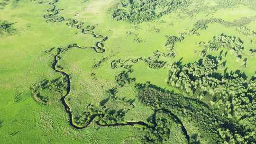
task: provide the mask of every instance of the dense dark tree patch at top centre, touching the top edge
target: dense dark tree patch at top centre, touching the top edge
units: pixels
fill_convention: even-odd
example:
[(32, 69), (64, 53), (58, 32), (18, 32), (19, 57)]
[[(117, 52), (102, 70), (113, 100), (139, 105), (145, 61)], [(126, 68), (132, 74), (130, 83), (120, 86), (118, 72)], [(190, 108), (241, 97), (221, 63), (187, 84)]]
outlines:
[(120, 0), (111, 18), (130, 23), (152, 21), (176, 9), (187, 7), (189, 0)]

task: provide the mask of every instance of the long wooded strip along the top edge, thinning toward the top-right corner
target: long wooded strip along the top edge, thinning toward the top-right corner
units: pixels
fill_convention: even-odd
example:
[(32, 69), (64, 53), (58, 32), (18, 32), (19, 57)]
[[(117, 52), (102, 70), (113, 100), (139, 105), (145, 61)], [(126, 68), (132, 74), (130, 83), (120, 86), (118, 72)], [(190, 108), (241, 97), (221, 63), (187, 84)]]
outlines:
[(216, 5), (209, 7), (203, 0), (119, 0), (111, 9), (110, 17), (129, 23), (148, 22), (171, 12), (179, 12), (192, 17), (199, 12), (217, 11), (232, 8), (236, 4), (255, 6), (253, 0), (216, 0)]

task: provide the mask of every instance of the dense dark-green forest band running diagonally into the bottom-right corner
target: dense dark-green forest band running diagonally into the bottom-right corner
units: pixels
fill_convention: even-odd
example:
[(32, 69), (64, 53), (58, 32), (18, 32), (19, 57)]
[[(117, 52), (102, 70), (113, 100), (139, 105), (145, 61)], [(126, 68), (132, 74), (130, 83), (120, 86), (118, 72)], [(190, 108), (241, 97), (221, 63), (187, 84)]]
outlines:
[[(169, 109), (176, 115), (193, 121), (200, 128), (201, 136), (210, 140), (212, 144), (256, 143), (255, 114), (243, 117), (249, 119), (248, 121), (233, 120), (225, 115), (219, 115), (220, 110), (211, 109), (198, 99), (187, 98), (151, 84), (137, 84), (137, 89), (138, 98), (143, 104)], [(251, 110), (251, 113), (254, 112)]]

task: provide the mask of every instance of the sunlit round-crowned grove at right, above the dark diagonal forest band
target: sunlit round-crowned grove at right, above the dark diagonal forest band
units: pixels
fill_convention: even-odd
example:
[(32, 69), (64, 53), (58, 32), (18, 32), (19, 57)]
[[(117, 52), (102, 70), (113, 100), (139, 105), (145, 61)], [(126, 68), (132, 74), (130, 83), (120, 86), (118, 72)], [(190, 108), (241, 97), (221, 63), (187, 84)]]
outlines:
[(256, 139), (256, 80), (253, 77), (247, 82), (245, 73), (240, 71), (221, 75), (216, 72), (218, 63), (216, 58), (210, 57), (182, 66), (176, 62), (170, 69), (168, 84), (200, 99), (205, 95), (212, 96), (211, 104), (222, 116), (238, 121), (245, 130), (244, 144), (250, 144), (251, 139)]

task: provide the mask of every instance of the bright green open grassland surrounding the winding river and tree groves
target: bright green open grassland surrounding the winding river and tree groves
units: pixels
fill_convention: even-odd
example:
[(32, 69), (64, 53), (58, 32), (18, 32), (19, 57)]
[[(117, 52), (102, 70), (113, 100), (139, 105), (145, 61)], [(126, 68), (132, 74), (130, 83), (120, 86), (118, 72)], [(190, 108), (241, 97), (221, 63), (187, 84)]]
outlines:
[[(40, 1), (43, 3), (39, 4)], [(47, 54), (46, 50), (74, 43), (92, 46), (101, 39), (83, 34), (80, 29), (67, 26), (65, 21), (46, 23), (43, 16), (47, 14), (46, 9), (52, 7), (49, 5), (50, 1), (52, 0), (0, 0), (0, 3), (7, 3), (0, 9), (0, 20), (14, 23), (11, 27), (15, 29), (12, 34), (0, 35), (0, 144), (144, 144), (141, 142), (145, 133), (143, 126), (99, 126), (94, 123), (99, 120), (98, 117), (86, 128), (76, 129), (69, 125), (69, 115), (60, 100), (61, 95), (50, 95), (49, 103), (45, 106), (33, 99), (31, 85), (62, 76), (52, 68), (54, 56)], [(166, 36), (179, 37), (181, 33), (188, 33), (194, 23), (201, 19), (221, 18), (233, 22), (256, 15), (254, 9), (238, 4), (209, 12), (210, 14), (195, 13), (192, 18), (174, 11), (150, 22), (128, 23), (110, 18), (111, 9), (117, 1), (119, 0), (59, 0), (55, 3), (57, 9), (63, 9), (58, 16), (94, 26), (94, 33), (108, 37), (104, 41), (104, 53), (95, 53), (92, 48), (73, 48), (59, 55), (57, 65), (70, 75), (70, 93), (66, 99), (74, 116), (86, 111), (88, 104), (99, 105), (108, 98), (106, 91), (117, 86), (116, 76), (125, 69), (111, 68), (114, 60), (151, 58), (157, 50), (168, 53), (169, 50), (165, 47)], [(209, 7), (216, 4), (215, 0), (205, 1)], [(228, 48), (223, 48), (227, 55), (221, 61), (227, 61), (227, 72), (240, 70), (245, 72), (247, 80), (255, 76), (256, 56), (249, 50), (256, 49), (256, 36), (245, 36), (237, 30), (238, 27), (225, 27), (218, 23), (207, 26), (207, 29), (198, 30), (200, 35), (186, 34), (184, 40), (175, 43), (175, 57), (159, 57), (158, 60), (166, 62), (163, 68), (150, 68), (144, 61), (131, 64), (133, 72), (129, 77), (135, 78), (135, 81), (118, 87), (116, 96), (119, 99), (133, 99), (134, 107), (121, 100), (110, 100), (105, 107), (129, 109), (124, 117), (126, 122), (150, 123), (154, 108), (143, 105), (134, 88), (137, 83), (148, 81), (162, 89), (182, 93), (184, 97), (197, 98), (196, 95), (191, 96), (167, 84), (169, 69), (175, 61), (182, 60), (182, 64), (186, 64), (201, 59), (202, 56), (197, 52), (203, 47), (198, 43), (208, 42), (222, 33), (239, 37), (244, 46), (241, 59)], [(245, 27), (256, 31), (256, 19)], [(219, 56), (221, 50), (208, 54)], [(103, 58), (107, 60), (93, 68)], [(243, 62), (245, 58), (246, 67)], [(223, 74), (224, 70), (218, 72)], [(201, 101), (210, 103), (208, 98)], [(180, 119), (191, 141), (194, 139), (193, 144), (211, 144), (207, 137), (201, 136), (204, 132), (194, 122), (182, 116)], [(179, 124), (172, 125), (169, 144), (187, 144), (180, 127)], [(198, 136), (193, 138), (192, 135)]]

